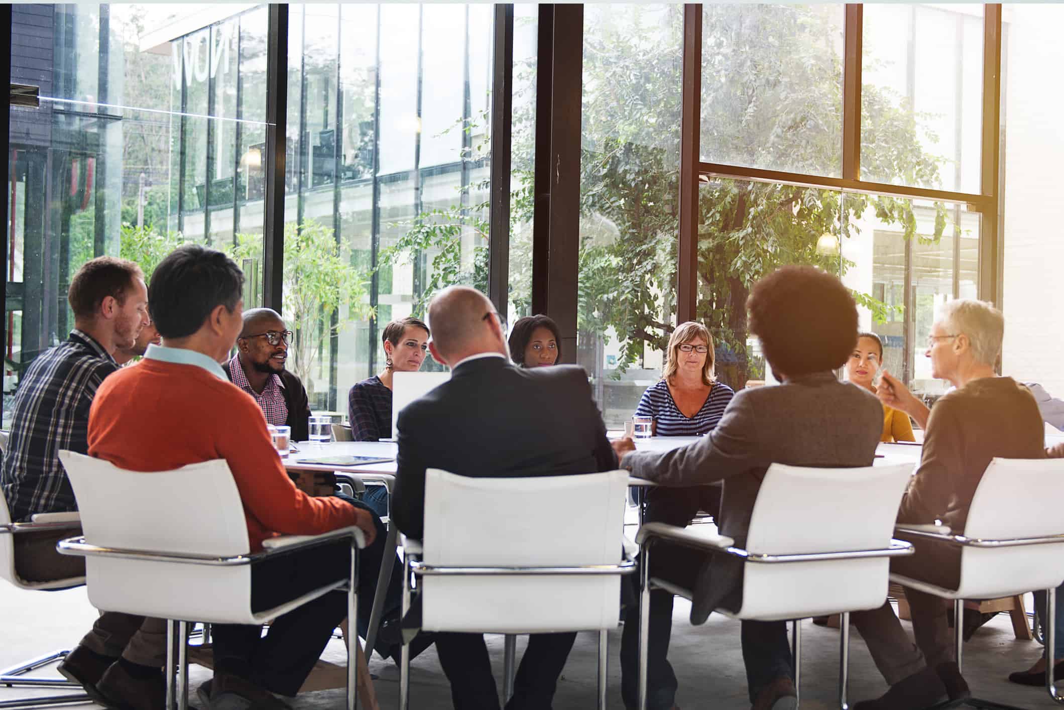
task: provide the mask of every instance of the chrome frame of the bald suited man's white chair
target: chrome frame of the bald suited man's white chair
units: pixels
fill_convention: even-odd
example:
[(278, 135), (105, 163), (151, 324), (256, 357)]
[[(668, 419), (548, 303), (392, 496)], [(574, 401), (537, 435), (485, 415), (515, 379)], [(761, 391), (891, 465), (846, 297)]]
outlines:
[[(413, 541), (411, 541), (413, 542)], [(419, 544), (417, 545), (419, 547)], [(438, 567), (420, 562), (420, 551), (415, 551), (409, 543), (404, 546), (402, 576), (402, 616), (410, 611), (411, 583), (418, 577), (432, 576), (512, 576), (512, 575), (545, 575), (545, 576), (582, 576), (582, 575), (617, 575), (625, 576), (635, 572), (635, 561), (625, 555), (619, 564), (585, 565), (578, 567)], [(606, 665), (609, 662), (609, 632), (599, 629), (598, 645), (598, 708), (605, 709), (606, 697)], [(510, 699), (514, 692), (514, 674), (517, 650), (517, 635), (505, 634), (504, 661), (502, 679), (502, 703)], [(410, 645), (403, 643), (402, 656), (399, 662), (399, 710), (410, 707)]]

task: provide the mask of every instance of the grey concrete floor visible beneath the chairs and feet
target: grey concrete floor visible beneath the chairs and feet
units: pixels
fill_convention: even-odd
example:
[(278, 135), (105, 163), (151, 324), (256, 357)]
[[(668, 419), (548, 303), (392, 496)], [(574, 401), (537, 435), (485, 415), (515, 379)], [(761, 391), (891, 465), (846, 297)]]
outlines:
[[(714, 614), (701, 627), (687, 623), (688, 605), (678, 600), (670, 659), (680, 680), (677, 703), (684, 710), (714, 708), (746, 710), (746, 679), (738, 645), (738, 623)], [(69, 647), (89, 628), (96, 611), (89, 606), (85, 589), (66, 592), (26, 592), (0, 583), (0, 668), (55, 648)], [(837, 708), (834, 701), (837, 682), (838, 632), (834, 629), (803, 625), (802, 708)], [(501, 688), (502, 637), (489, 635), (496, 678)], [(620, 668), (617, 654), (620, 629), (610, 633), (610, 707), (620, 708)], [(518, 641), (518, 654), (523, 649)], [(586, 710), (595, 707), (596, 637), (580, 634), (559, 683), (554, 710)], [(977, 696), (1021, 708), (1054, 708), (1045, 690), (1023, 688), (1005, 680), (1011, 671), (1027, 668), (1042, 654), (1033, 641), (1016, 641), (1008, 616), (998, 615), (982, 627), (965, 645), (964, 668)], [(327, 660), (343, 663), (342, 642), (334, 641), (326, 651)], [(863, 699), (881, 694), (885, 683), (871, 663), (864, 643), (854, 632), (850, 655), (850, 698)], [(399, 673), (390, 661), (377, 657), (370, 671), (379, 676), (377, 694), (382, 708), (398, 704)], [(54, 674), (51, 674), (54, 675)], [(210, 678), (210, 671), (193, 666), (192, 682)], [(433, 649), (412, 664), (412, 708), (450, 708), (447, 680), (439, 670)], [(40, 694), (29, 689), (0, 689), (0, 701)], [(196, 703), (193, 695), (193, 703)], [(343, 708), (343, 690), (318, 691), (300, 695), (295, 710)]]

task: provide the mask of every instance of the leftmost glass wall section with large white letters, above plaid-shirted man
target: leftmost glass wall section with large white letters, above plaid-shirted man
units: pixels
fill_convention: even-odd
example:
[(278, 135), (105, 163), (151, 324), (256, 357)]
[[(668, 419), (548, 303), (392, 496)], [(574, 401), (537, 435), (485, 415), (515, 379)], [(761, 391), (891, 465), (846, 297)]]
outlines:
[[(237, 75), (265, 73), (265, 7), (13, 7), (11, 81), (41, 98), (11, 109), (4, 426), (21, 373), (73, 327), (66, 293), (85, 261), (120, 255), (150, 279), (184, 241), (237, 254), (250, 186), (236, 146), (265, 134), (265, 93), (242, 94)], [(262, 213), (261, 196), (243, 212), (251, 260)]]

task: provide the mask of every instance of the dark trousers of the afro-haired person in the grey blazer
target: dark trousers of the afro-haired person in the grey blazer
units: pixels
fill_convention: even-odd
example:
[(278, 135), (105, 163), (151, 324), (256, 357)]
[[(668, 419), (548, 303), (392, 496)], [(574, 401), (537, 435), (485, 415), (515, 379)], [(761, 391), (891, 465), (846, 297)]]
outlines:
[[(647, 492), (646, 523), (668, 523), (686, 527), (698, 511), (717, 515), (720, 488), (700, 485), (687, 489), (655, 488)], [(706, 555), (689, 548), (656, 542), (650, 555), (650, 576), (668, 579), (693, 590)], [(635, 579), (635, 576), (632, 576)], [(743, 622), (743, 661), (746, 664), (750, 700), (781, 676), (793, 676), (791, 648), (784, 622)], [(647, 708), (662, 710), (676, 703), (676, 674), (668, 662), (672, 630), (672, 595), (664, 590), (650, 593), (650, 623), (647, 644)], [(620, 642), (621, 697), (628, 708), (638, 707), (639, 605), (625, 616)]]

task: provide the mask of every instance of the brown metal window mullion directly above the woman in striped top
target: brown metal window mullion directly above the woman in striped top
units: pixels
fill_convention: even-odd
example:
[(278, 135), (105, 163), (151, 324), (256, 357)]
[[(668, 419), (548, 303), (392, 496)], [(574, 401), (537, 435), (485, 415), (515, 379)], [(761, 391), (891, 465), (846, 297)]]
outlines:
[(677, 246), (677, 323), (698, 316), (698, 166), (702, 105), (702, 5), (683, 6), (680, 116), (680, 238)]

